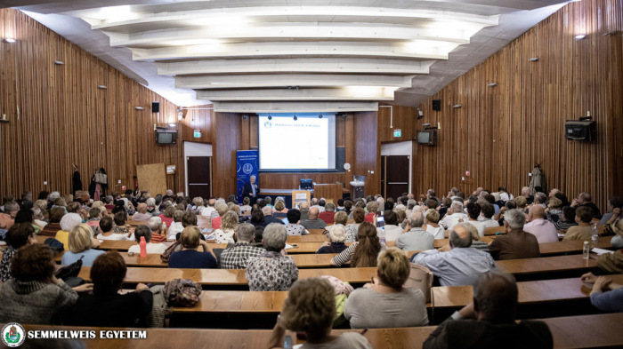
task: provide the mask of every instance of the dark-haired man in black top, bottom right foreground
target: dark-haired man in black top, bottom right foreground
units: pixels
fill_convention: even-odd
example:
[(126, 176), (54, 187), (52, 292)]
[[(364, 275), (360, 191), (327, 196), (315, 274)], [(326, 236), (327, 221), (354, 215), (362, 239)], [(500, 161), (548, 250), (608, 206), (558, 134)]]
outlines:
[(517, 283), (497, 270), (481, 274), (473, 302), (443, 321), (424, 348), (551, 348), (554, 339), (542, 321), (514, 321)]

